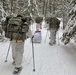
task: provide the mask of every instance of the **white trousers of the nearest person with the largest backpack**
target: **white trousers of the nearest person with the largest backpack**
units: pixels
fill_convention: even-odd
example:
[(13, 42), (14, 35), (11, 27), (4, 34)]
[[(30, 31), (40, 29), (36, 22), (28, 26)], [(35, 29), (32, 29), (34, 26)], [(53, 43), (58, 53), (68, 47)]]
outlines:
[(15, 61), (15, 67), (21, 67), (23, 53), (24, 53), (24, 42), (12, 41), (12, 57)]

